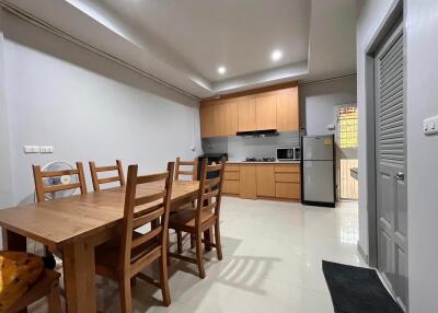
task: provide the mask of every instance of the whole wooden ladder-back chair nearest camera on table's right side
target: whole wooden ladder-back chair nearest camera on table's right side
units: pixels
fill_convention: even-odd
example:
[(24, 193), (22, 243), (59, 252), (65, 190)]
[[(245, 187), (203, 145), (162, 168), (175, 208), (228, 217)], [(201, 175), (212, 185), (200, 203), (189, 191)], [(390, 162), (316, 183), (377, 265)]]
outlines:
[[(168, 171), (164, 173), (138, 176), (137, 172), (138, 165), (129, 165), (122, 241), (118, 244), (104, 244), (95, 251), (96, 274), (118, 281), (123, 312), (132, 311), (130, 281), (135, 277), (160, 288), (164, 305), (171, 303), (168, 280), (168, 225), (174, 162), (168, 163)], [(154, 194), (137, 196), (138, 187), (141, 189), (140, 185), (155, 182), (164, 182), (161, 189), (154, 186)], [(137, 212), (138, 207), (150, 208)], [(147, 233), (135, 231), (146, 224), (151, 225)], [(160, 264), (160, 281), (140, 271), (157, 259)]]

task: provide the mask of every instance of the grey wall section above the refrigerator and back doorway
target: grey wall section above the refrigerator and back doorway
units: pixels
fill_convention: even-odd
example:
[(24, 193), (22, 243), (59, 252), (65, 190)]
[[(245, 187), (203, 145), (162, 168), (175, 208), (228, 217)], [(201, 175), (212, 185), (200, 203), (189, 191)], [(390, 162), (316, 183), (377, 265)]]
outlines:
[(356, 104), (356, 77), (300, 85), (301, 119), (308, 135), (331, 135), (327, 125), (336, 124), (336, 106)]

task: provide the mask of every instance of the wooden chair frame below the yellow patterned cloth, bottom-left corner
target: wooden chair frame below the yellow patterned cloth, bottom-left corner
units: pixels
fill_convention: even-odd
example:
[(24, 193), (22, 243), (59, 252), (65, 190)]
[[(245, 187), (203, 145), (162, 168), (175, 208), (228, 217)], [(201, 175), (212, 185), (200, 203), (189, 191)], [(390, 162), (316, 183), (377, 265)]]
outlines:
[(60, 274), (57, 271), (43, 269), (38, 280), (5, 313), (27, 312), (27, 306), (44, 297), (47, 297), (49, 313), (61, 313), (59, 277)]

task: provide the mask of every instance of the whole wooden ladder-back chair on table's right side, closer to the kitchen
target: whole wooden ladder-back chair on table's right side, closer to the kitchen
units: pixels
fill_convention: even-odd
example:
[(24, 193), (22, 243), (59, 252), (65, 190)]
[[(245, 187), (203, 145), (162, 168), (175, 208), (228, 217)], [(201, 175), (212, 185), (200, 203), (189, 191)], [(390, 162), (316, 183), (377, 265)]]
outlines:
[[(195, 210), (183, 210), (172, 215), (169, 219), (169, 228), (176, 232), (186, 232), (195, 239), (196, 259), (181, 255), (181, 253), (171, 253), (172, 257), (197, 264), (199, 277), (205, 278), (204, 260), (203, 260), (203, 233), (211, 228), (215, 228), (215, 243), (208, 242), (209, 245), (216, 248), (218, 259), (222, 259), (222, 248), (220, 243), (220, 205), (222, 197), (222, 184), (226, 159), (221, 160), (220, 164), (207, 165), (207, 159), (203, 160), (199, 194)], [(207, 173), (216, 172), (217, 177), (207, 179)], [(177, 239), (181, 240), (180, 237)], [(209, 241), (209, 239), (208, 239)], [(182, 243), (178, 243), (178, 246)]]

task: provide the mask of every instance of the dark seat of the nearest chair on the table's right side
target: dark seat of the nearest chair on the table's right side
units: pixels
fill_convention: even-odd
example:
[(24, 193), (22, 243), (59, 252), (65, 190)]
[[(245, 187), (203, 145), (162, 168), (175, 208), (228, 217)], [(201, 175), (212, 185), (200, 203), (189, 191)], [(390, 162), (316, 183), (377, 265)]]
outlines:
[[(134, 239), (141, 234), (134, 233)], [(146, 242), (131, 251), (131, 259), (137, 259), (142, 255), (148, 255), (154, 248), (160, 246), (158, 239)], [(120, 262), (120, 242), (119, 240), (111, 241), (95, 248), (95, 267), (96, 274), (115, 277)]]

